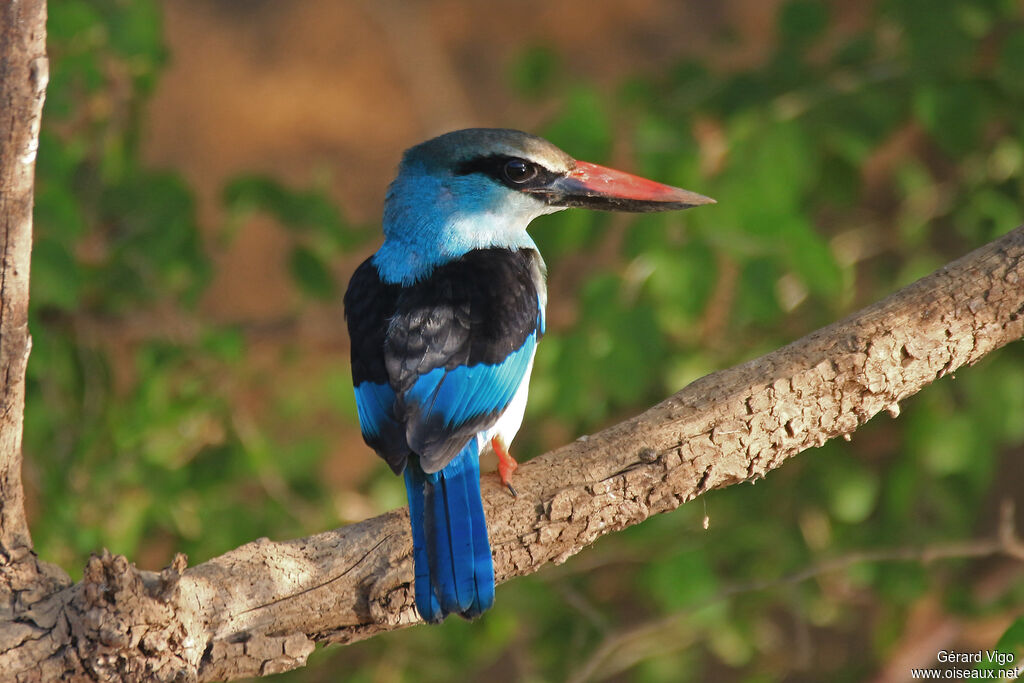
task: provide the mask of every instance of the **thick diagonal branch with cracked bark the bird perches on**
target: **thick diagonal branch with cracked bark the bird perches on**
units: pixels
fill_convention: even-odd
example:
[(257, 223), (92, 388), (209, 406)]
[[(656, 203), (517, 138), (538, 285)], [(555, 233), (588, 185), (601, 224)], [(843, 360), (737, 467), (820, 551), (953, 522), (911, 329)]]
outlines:
[[(525, 463), (517, 498), (484, 477), (500, 582), (712, 488), (763, 477), (1024, 337), (1024, 227), (777, 351), (694, 382), (598, 434)], [(5, 638), (18, 680), (210, 681), (302, 666), (315, 642), (418, 623), (404, 510), (305, 539), (260, 540), (160, 574), (94, 556)], [(499, 599), (501, 596), (499, 594)]]

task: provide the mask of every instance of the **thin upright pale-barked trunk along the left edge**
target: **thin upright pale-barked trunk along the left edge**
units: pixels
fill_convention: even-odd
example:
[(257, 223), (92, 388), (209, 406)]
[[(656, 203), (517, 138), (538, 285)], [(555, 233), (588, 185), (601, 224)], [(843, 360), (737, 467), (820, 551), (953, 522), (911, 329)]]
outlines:
[(35, 661), (20, 647), (35, 630), (18, 620), (71, 585), (32, 552), (22, 488), (33, 178), (49, 74), (45, 25), (43, 0), (0, 2), (0, 652), (19, 669)]

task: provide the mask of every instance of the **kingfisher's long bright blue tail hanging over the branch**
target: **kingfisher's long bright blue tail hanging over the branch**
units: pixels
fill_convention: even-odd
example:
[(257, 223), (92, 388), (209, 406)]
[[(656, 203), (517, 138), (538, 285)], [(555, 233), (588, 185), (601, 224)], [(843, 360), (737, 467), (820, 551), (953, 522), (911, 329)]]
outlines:
[(434, 474), (406, 467), (416, 564), (416, 608), (427, 622), (473, 618), (495, 602), (495, 565), (480, 498), (476, 439)]

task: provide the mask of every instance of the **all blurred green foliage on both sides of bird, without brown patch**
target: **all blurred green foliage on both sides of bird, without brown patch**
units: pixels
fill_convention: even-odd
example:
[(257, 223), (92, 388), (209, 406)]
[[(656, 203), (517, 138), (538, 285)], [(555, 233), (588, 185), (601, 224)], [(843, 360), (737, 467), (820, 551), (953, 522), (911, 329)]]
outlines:
[[(557, 108), (537, 132), (720, 202), (538, 221), (552, 298), (575, 305), (549, 321), (520, 454), (774, 349), (1021, 222), (1018, 4), (883, 0), (856, 30), (841, 30), (830, 9), (785, 2), (774, 52), (756, 67), (685, 61), (610, 94), (581, 83), (557, 48), (512, 65), (520, 96)], [(276, 422), (240, 405), (240, 387), (260, 373), (251, 335), (197, 313), (212, 265), (191, 193), (139, 161), (141, 105), (166, 58), (156, 3), (53, 2), (50, 45), (26, 416), (40, 553), (73, 571), (102, 546), (201, 560), (337, 524), (321, 476), (334, 425), (298, 436), (292, 427), (332, 411), (354, 424), (344, 358), (328, 377), (274, 387)], [(376, 229), (348, 224), (323, 190), (273, 178), (237, 178), (223, 201), (222, 239), (254, 212), (288, 233), (299, 313), (337, 299), (333, 264)], [(167, 319), (185, 331), (159, 334)], [(475, 624), (334, 648), (285, 678), (334, 680), (344, 667), (353, 681), (540, 681), (590, 667), (598, 680), (856, 681), (907, 646), (923, 612), (1009, 623), (1024, 603), (1019, 567), (812, 570), (987, 536), (1001, 499), (1024, 502), (1020, 344), (902, 408), (850, 444), (502, 587)], [(398, 504), (400, 483), (383, 469), (362, 489)], [(977, 648), (965, 633), (964, 649)], [(1021, 633), (1018, 620), (1000, 641), (1018, 659)]]

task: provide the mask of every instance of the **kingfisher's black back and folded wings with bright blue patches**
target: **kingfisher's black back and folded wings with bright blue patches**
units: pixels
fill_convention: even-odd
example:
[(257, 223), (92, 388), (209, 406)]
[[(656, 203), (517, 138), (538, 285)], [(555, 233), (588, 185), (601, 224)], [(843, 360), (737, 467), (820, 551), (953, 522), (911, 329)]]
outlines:
[[(441, 469), (508, 407), (543, 334), (543, 268), (534, 250), (484, 249), (409, 287), (381, 284), (372, 264), (353, 275), (345, 300), (349, 334), (361, 335), (352, 342), (360, 424), (392, 469), (410, 451), (425, 471)], [(359, 292), (371, 299), (362, 308)], [(403, 450), (396, 438), (381, 447), (392, 423), (403, 427)]]

